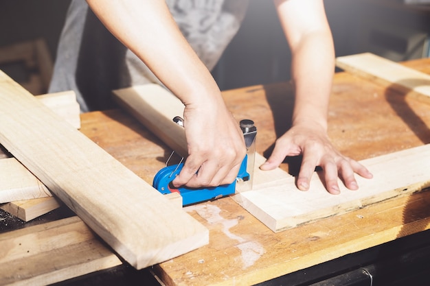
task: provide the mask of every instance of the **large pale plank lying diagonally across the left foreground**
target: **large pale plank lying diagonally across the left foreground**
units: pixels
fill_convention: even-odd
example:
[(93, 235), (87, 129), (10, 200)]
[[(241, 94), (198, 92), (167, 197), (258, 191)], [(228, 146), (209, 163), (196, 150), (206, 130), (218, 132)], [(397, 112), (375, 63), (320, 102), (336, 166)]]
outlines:
[(0, 143), (128, 263), (141, 269), (209, 233), (148, 183), (0, 73)]

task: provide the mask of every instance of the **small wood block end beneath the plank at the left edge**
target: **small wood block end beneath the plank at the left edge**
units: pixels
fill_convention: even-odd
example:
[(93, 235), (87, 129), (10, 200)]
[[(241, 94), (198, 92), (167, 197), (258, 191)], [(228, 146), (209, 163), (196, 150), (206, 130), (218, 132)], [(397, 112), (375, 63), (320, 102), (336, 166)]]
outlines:
[(11, 215), (22, 219), (24, 222), (29, 222), (59, 207), (60, 202), (54, 197), (20, 200), (8, 202), (0, 206), (3, 211), (7, 211)]

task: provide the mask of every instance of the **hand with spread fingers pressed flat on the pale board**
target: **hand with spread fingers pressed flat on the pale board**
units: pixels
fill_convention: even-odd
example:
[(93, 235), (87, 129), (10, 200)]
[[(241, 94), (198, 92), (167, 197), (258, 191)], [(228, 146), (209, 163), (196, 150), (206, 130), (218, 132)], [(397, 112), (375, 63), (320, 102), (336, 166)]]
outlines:
[(286, 156), (299, 154), (302, 154), (303, 159), (296, 182), (297, 188), (302, 191), (309, 189), (310, 177), (317, 166), (322, 168), (324, 184), (332, 194), (340, 193), (338, 176), (351, 190), (359, 189), (354, 173), (363, 178), (372, 178), (372, 174), (366, 167), (337, 151), (328, 139), (324, 128), (317, 123), (301, 124), (288, 130), (276, 141), (271, 156), (260, 166), (260, 169), (275, 169)]

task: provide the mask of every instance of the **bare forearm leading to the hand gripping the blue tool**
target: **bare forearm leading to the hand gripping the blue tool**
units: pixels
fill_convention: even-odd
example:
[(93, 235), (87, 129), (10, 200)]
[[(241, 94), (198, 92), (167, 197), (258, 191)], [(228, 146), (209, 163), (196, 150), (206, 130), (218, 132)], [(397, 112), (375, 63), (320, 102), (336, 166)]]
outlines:
[(164, 1), (87, 2), (107, 29), (185, 105), (219, 101), (216, 82), (183, 38)]

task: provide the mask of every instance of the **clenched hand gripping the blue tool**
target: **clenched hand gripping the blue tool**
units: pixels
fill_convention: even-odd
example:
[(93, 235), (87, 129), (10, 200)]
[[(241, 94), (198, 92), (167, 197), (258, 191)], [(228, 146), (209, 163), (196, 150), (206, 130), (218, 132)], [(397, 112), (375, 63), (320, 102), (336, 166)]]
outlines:
[(216, 187), (236, 180), (246, 154), (238, 122), (222, 100), (188, 104), (184, 110), (188, 158), (175, 187)]

